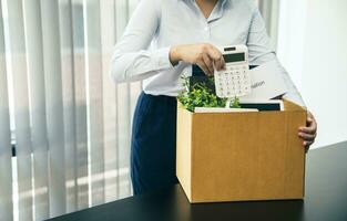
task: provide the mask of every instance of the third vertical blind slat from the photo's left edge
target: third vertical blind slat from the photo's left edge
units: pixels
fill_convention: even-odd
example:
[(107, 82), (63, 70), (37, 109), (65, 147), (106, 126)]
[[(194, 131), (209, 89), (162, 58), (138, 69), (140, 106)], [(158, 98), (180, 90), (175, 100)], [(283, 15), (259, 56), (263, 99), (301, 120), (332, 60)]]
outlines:
[(35, 220), (49, 218), (48, 137), (41, 11), (39, 0), (25, 0), (24, 23), (30, 90), (31, 140), (33, 148)]

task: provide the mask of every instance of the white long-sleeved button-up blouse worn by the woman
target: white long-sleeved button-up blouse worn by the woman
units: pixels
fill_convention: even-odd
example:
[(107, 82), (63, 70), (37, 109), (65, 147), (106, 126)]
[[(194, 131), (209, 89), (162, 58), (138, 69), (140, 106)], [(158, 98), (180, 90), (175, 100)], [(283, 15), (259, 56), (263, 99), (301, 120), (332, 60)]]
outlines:
[[(180, 76), (190, 75), (192, 65), (173, 66), (170, 48), (204, 42), (246, 44), (251, 65), (277, 61), (254, 0), (218, 0), (207, 19), (195, 0), (141, 0), (114, 48), (111, 74), (118, 83), (143, 80), (146, 94), (176, 96), (183, 90)], [(304, 106), (288, 73), (278, 74), (287, 85), (285, 97)]]

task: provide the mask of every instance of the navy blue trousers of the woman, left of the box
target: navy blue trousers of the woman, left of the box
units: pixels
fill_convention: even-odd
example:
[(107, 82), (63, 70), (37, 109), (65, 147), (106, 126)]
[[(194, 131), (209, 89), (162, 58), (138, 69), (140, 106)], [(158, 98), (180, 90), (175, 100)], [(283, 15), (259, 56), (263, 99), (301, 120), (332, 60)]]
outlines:
[(142, 93), (132, 128), (131, 179), (134, 194), (177, 183), (176, 98)]

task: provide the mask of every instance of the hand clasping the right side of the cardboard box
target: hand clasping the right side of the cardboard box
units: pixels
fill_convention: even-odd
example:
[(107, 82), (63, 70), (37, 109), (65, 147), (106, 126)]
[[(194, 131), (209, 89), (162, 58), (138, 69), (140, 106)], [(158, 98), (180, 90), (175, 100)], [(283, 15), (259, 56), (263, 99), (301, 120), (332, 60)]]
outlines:
[(300, 127), (298, 136), (303, 139), (303, 146), (308, 151), (317, 136), (317, 122), (310, 112), (307, 112), (306, 127)]

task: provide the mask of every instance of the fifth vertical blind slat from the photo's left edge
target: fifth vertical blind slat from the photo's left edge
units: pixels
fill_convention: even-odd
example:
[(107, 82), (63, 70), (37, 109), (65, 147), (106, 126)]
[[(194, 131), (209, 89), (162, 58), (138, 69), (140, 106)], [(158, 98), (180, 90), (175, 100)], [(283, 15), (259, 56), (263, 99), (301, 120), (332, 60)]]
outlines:
[(78, 209), (74, 57), (71, 0), (59, 1), (64, 103), (67, 212)]

